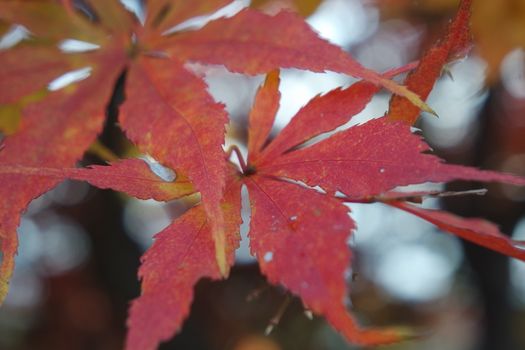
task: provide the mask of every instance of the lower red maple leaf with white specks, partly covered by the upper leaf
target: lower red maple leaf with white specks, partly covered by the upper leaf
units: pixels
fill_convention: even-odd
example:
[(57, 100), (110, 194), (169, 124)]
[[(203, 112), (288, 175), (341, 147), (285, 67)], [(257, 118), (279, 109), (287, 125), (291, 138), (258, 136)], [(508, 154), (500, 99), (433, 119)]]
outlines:
[[(305, 144), (345, 124), (364, 108), (377, 90), (375, 87), (365, 89), (363, 84), (367, 83), (358, 82), (315, 97), (290, 122), (294, 130), (285, 128), (268, 142), (279, 105), (278, 73), (270, 73), (259, 88), (250, 113), (248, 145), (249, 152), (254, 153), (249, 154), (248, 164), (239, 158), (241, 172), (230, 170), (221, 207), (225, 214), (225, 257), (229, 265), (233, 263), (233, 250), (239, 240), (240, 186), (245, 184), (252, 212), (251, 252), (259, 261), (262, 273), (271, 283), (283, 285), (299, 296), (313, 312), (326, 317), (350, 342), (378, 345), (415, 334), (407, 328), (361, 328), (347, 310), (345, 275), (351, 260), (347, 242), (355, 224), (344, 203), (382, 201), (450, 233), (525, 260), (520, 242), (506, 238), (493, 224), (403, 202), (403, 199), (430, 193), (392, 192), (401, 185), (427, 181), (460, 178), (525, 185), (525, 179), (445, 164), (433, 155), (421, 153), (428, 151), (428, 146), (411, 132), (410, 126), (386, 118)], [(334, 96), (348, 103), (340, 101), (334, 105)], [(320, 127), (312, 128), (312, 115), (321, 110), (329, 112), (327, 120), (320, 119)], [(284, 137), (290, 137), (291, 141), (283, 141)], [(236, 148), (232, 151), (239, 155)], [(0, 167), (0, 173), (82, 179), (141, 198), (168, 200), (194, 191), (185, 178), (177, 178), (179, 182), (171, 185), (159, 180), (139, 160), (89, 169), (13, 165)], [(336, 191), (343, 196), (334, 196)], [(211, 218), (205, 215), (201, 204), (157, 236), (140, 270), (143, 291), (130, 311), (129, 349), (153, 349), (171, 337), (188, 314), (195, 283), (203, 277), (224, 277), (215, 264), (212, 230)]]

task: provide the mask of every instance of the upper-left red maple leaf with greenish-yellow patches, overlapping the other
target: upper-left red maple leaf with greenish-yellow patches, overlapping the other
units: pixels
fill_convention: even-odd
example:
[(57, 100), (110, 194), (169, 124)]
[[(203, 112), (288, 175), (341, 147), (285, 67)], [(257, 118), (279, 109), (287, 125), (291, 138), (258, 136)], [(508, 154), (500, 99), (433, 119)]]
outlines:
[[(6, 88), (2, 89), (0, 103), (8, 104), (0, 108), (0, 128), (13, 134), (4, 140), (0, 161), (18, 161), (25, 166), (72, 166), (101, 132), (101, 117), (111, 90), (126, 72), (127, 99), (120, 124), (140, 150), (187, 176), (201, 193), (213, 226), (217, 263), (227, 275), (220, 205), (226, 178), (222, 144), (227, 115), (208, 94), (202, 78), (188, 71), (185, 63), (224, 64), (246, 74), (279, 67), (334, 70), (383, 85), (428, 110), (417, 95), (365, 69), (340, 48), (320, 39), (291, 13), (272, 17), (244, 10), (232, 18), (212, 21), (200, 30), (176, 35), (167, 32), (230, 2), (148, 1), (144, 26), (117, 0), (88, 0), (82, 2), (81, 9), (70, 0), (62, 4), (51, 0), (0, 2), (0, 20), (23, 25), (31, 33), (28, 40), (0, 51), (0, 63), (8, 67), (0, 73), (0, 86)], [(57, 49), (69, 40), (88, 43), (90, 50), (65, 53)], [(46, 89), (59, 72), (78, 68), (87, 68), (89, 77), (59, 91)], [(48, 123), (37, 122), (42, 110), (46, 111)], [(166, 147), (167, 143), (172, 146)], [(27, 156), (19, 158), (20, 153)], [(14, 200), (16, 205), (8, 204), (12, 200), (5, 193), (0, 204), (0, 236), (5, 241), (0, 301), (5, 297), (12, 270), (20, 214), (32, 198), (53, 185), (45, 181), (27, 184), (9, 176), (3, 181), (11, 192), (19, 193), (15, 195), (19, 198)]]

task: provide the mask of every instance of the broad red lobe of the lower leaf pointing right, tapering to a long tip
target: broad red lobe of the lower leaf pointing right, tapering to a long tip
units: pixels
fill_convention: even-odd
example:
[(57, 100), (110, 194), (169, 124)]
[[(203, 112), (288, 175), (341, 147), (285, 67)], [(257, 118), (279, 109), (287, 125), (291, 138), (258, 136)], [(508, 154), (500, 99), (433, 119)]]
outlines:
[(513, 175), (444, 164), (404, 123), (385, 118), (339, 132), (312, 146), (256, 164), (260, 173), (300, 180), (349, 198), (367, 198), (397, 186), (452, 180), (524, 185)]

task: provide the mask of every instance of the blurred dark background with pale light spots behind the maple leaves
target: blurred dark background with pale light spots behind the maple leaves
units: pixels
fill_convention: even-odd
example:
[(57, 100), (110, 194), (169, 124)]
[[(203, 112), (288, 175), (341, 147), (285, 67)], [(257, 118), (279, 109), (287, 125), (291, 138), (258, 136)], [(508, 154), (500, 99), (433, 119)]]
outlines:
[[(137, 2), (126, 1), (140, 13)], [(231, 14), (249, 1), (235, 1)], [(140, 4), (138, 4), (140, 5)], [(445, 31), (456, 0), (255, 0), (268, 13), (288, 8), (307, 17), (324, 38), (377, 71), (420, 57)], [(138, 9), (138, 10), (137, 10)], [(206, 18), (190, 22), (199, 26)], [(451, 63), (435, 86), (419, 128), (449, 162), (525, 175), (525, 2), (476, 0), (476, 46)], [(231, 114), (228, 144), (243, 148), (247, 115), (264, 77), (192, 64)], [(310, 98), (355, 80), (282, 72), (277, 133)], [(115, 126), (123, 79), (108, 108), (102, 144), (132, 153)], [(383, 91), (351, 123), (380, 117)], [(131, 153), (130, 153), (131, 152)], [(83, 164), (103, 163), (86, 155)], [(430, 185), (429, 185), (430, 186)], [(433, 185), (444, 188), (443, 185)], [(427, 200), (463, 216), (492, 220), (525, 240), (525, 191), (502, 185), (453, 183), (448, 189), (488, 188), (484, 197)], [(244, 207), (247, 205), (244, 198)], [(22, 219), (11, 290), (0, 308), (0, 349), (120, 349), (127, 307), (139, 295), (136, 271), (154, 233), (190, 206), (159, 203), (66, 181), (35, 200)], [(427, 336), (389, 350), (525, 349), (525, 263), (462, 242), (410, 214), (380, 204), (352, 205), (358, 229), (350, 283), (352, 310), (363, 325), (408, 325)], [(247, 212), (245, 221), (249, 220)], [(161, 349), (336, 350), (347, 344), (322, 318), (281, 288), (270, 286), (249, 255), (243, 225), (237, 265), (225, 282), (201, 281), (182, 332)], [(285, 307), (286, 306), (286, 307)], [(279, 324), (265, 336), (270, 320)]]

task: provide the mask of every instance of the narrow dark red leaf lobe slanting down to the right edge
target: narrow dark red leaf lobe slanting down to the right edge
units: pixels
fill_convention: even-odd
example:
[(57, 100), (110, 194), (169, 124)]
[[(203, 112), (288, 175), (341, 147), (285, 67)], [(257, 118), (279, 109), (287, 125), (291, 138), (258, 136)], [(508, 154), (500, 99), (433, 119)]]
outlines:
[(458, 237), (525, 261), (525, 245), (502, 234), (493, 223), (483, 219), (466, 219), (440, 210), (423, 209), (404, 202), (389, 205), (427, 220)]

